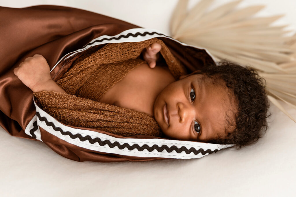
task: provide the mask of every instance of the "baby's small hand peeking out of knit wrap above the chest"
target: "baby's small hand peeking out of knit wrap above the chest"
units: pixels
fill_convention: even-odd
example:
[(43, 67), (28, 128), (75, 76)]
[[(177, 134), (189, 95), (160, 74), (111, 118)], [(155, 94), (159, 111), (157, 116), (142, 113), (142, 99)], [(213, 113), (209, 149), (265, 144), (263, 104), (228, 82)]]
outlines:
[(149, 47), (145, 48), (143, 51), (143, 58), (147, 61), (150, 68), (154, 68), (156, 66), (156, 61), (159, 58), (159, 51), (161, 49), (161, 45), (158, 43), (154, 43), (149, 45)]

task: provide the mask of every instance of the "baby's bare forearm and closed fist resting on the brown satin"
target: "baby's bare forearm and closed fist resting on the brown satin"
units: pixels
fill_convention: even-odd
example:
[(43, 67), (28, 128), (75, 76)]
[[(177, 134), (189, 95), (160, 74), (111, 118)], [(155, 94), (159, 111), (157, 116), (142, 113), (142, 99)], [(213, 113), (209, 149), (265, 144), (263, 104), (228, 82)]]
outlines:
[(33, 92), (55, 91), (67, 94), (52, 80), (49, 65), (41, 55), (26, 58), (13, 72)]

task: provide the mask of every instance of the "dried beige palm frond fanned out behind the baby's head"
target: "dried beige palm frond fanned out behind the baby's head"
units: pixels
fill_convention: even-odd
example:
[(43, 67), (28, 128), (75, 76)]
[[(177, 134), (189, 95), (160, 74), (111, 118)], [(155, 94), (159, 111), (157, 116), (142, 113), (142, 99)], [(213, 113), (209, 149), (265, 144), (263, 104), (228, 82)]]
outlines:
[(215, 61), (226, 59), (258, 70), (266, 80), (268, 99), (296, 122), (278, 100), (296, 109), (296, 34), (285, 37), (284, 26), (271, 27), (283, 15), (257, 17), (264, 6), (236, 9), (233, 1), (207, 11), (213, 0), (200, 0), (187, 10), (179, 0), (170, 21), (173, 38), (206, 48)]

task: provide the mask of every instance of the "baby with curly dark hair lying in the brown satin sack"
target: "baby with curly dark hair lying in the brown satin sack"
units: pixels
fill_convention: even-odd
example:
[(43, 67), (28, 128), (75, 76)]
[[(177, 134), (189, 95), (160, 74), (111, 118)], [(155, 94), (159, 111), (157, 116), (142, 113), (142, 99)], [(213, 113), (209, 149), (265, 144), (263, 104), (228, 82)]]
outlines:
[[(268, 101), (263, 81), (253, 69), (222, 62), (175, 81), (167, 68), (156, 66), (160, 49), (157, 43), (144, 49), (149, 66), (141, 64), (130, 71), (100, 102), (153, 115), (163, 134), (173, 139), (241, 148), (262, 136)], [(67, 94), (52, 80), (41, 55), (26, 58), (14, 73), (33, 92)]]

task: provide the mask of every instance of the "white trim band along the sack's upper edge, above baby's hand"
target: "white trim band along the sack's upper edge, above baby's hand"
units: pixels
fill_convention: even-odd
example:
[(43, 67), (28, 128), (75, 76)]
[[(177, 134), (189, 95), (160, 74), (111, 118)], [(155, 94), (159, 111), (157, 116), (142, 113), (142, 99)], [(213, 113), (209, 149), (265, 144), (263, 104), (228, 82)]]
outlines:
[[(91, 45), (84, 45), (83, 48), (80, 48), (76, 51), (73, 51), (73, 52), (70, 52), (68, 54), (66, 54), (65, 56), (63, 56), (58, 62), (57, 64), (54, 65), (54, 67), (51, 69), (51, 71), (61, 62), (61, 61), (64, 61), (65, 59), (67, 58), (70, 58), (71, 56), (74, 56), (76, 53), (79, 53), (81, 51), (85, 51), (86, 49), (92, 47), (92, 46), (96, 46), (96, 45), (100, 45), (100, 44), (106, 44), (106, 43), (126, 43), (126, 42), (141, 42), (141, 41), (144, 41), (144, 40), (149, 40), (151, 38), (157, 38), (157, 37), (164, 37), (164, 38), (169, 38), (171, 40), (174, 40), (176, 41), (177, 43), (180, 43), (184, 46), (190, 46), (190, 47), (194, 47), (194, 48), (198, 48), (198, 49), (204, 49), (208, 54), (209, 56), (211, 56), (211, 58), (215, 61), (215, 58), (210, 54), (209, 51), (207, 51), (207, 49), (205, 48), (202, 48), (202, 47), (197, 47), (197, 46), (194, 46), (194, 45), (188, 45), (188, 44), (185, 44), (185, 43), (182, 43), (180, 42), (179, 40), (176, 40), (176, 39), (173, 39), (167, 35), (164, 35), (164, 33), (160, 32), (159, 30), (155, 30), (155, 29), (148, 29), (148, 28), (134, 28), (134, 29), (129, 29), (129, 30), (126, 30), (126, 31), (123, 31), (121, 32), (120, 34), (117, 34), (117, 35), (114, 35), (114, 36), (108, 36), (108, 35), (102, 35), (98, 38), (95, 38), (93, 40), (91, 40), (89, 43), (92, 43), (96, 40), (102, 40), (104, 38), (107, 38), (107, 39), (110, 39), (110, 38), (119, 38), (121, 35), (128, 35), (129, 33), (131, 34), (136, 34), (136, 33), (145, 33), (145, 32), (149, 32), (149, 33), (152, 33), (152, 32), (157, 32), (158, 34), (163, 34), (163, 35), (158, 35), (158, 34), (153, 34), (153, 35), (144, 35), (144, 36), (141, 36), (141, 35), (138, 35), (136, 37), (133, 37), (133, 36), (129, 36), (128, 38), (120, 38), (118, 40), (103, 40), (102, 42), (96, 42), (96, 43), (93, 43)], [(67, 58), (65, 58), (67, 57)], [(64, 59), (65, 58), (65, 59)], [(216, 62), (216, 61), (215, 61)]]

